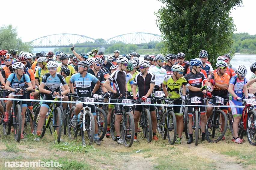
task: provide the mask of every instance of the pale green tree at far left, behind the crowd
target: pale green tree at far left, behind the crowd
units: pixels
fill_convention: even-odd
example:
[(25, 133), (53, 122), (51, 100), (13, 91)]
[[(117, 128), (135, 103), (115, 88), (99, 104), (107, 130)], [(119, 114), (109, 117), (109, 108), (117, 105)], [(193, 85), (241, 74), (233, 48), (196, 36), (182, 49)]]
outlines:
[(3, 25), (0, 28), (0, 49), (32, 51), (32, 42), (22, 42), (21, 38), (17, 38), (17, 35), (16, 28), (12, 28), (12, 25)]

